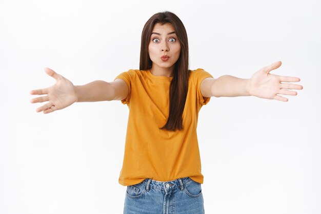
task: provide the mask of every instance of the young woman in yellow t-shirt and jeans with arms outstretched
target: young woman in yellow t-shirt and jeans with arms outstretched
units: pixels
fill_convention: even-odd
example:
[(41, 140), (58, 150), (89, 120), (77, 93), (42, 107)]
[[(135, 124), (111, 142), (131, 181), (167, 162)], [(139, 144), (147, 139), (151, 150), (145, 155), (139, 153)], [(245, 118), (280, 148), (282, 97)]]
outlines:
[(250, 79), (229, 75), (214, 79), (203, 69), (189, 70), (188, 39), (181, 20), (171, 12), (154, 14), (142, 33), (139, 70), (119, 74), (113, 82), (96, 80), (73, 85), (56, 79), (49, 88), (33, 90), (32, 103), (45, 114), (74, 102), (121, 100), (129, 107), (123, 167), (119, 183), (127, 186), (124, 213), (204, 213), (197, 117), (210, 97), (256, 96), (287, 101), (303, 89), (297, 77), (270, 74), (277, 61)]

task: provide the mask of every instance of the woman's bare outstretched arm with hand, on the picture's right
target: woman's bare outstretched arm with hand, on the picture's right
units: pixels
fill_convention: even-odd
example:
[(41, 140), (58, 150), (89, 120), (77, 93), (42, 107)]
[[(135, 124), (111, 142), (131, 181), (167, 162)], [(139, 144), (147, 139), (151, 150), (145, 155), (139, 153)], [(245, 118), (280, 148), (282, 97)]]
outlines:
[(298, 82), (297, 77), (286, 77), (270, 74), (270, 71), (282, 65), (281, 61), (272, 63), (252, 75), (250, 79), (241, 79), (224, 75), (217, 79), (205, 78), (200, 84), (200, 91), (204, 97), (237, 97), (256, 96), (266, 99), (288, 101), (277, 94), (297, 95), (297, 92), (287, 89), (301, 90), (302, 85), (282, 82)]

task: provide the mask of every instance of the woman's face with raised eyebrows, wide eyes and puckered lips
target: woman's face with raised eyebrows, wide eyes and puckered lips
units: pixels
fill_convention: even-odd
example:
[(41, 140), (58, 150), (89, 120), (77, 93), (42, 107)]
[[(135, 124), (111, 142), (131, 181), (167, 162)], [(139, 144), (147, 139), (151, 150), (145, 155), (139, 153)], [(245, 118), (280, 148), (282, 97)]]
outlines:
[(180, 42), (171, 24), (160, 25), (157, 23), (154, 26), (150, 37), (148, 53), (153, 62), (152, 66), (154, 69), (155, 67), (169, 68), (172, 71), (175, 62), (179, 58)]

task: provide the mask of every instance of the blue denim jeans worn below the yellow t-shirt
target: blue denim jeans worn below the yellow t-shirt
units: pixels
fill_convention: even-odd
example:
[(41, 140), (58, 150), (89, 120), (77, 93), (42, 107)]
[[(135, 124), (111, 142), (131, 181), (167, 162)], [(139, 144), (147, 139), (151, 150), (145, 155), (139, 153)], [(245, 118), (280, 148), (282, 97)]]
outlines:
[(124, 213), (202, 214), (201, 184), (189, 177), (164, 182), (145, 179), (127, 186)]

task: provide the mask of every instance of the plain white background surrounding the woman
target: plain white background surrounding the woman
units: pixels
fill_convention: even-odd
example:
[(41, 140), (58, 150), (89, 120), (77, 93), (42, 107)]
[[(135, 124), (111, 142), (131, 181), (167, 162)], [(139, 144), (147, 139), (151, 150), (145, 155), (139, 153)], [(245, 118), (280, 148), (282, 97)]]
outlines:
[(139, 68), (143, 26), (156, 12), (182, 19), (190, 69), (304, 86), (288, 102), (212, 97), (198, 141), (206, 213), (321, 213), (321, 7), (308, 1), (0, 0), (0, 213), (123, 213), (118, 184), (128, 107), (75, 103), (44, 115), (33, 89), (55, 80), (113, 81)]

